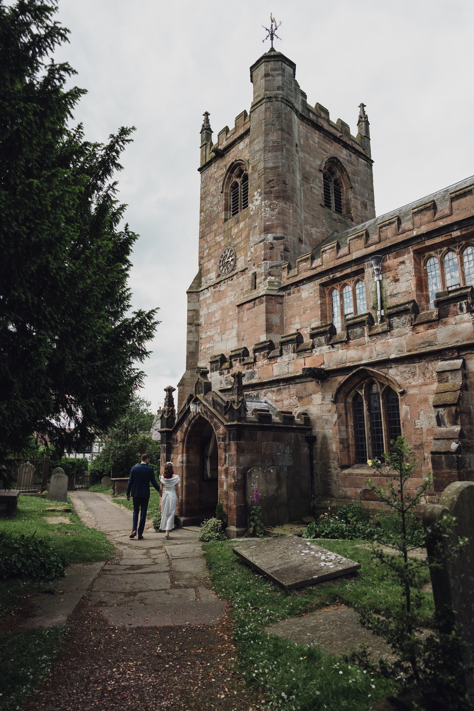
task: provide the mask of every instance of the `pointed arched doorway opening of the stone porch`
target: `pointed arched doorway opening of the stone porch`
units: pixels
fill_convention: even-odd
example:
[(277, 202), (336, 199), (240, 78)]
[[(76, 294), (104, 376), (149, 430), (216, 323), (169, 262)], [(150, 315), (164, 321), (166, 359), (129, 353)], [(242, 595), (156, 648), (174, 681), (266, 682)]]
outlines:
[(183, 515), (203, 521), (215, 515), (219, 496), (217, 437), (205, 417), (190, 425), (183, 459)]

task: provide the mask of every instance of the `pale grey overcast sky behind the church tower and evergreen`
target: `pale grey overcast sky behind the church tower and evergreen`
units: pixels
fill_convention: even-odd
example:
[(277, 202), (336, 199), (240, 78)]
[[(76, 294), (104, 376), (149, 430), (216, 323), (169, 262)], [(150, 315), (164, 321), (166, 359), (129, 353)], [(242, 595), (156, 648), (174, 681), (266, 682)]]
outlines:
[(159, 306), (144, 364), (153, 410), (185, 369), (185, 290), (198, 271), (199, 144), (205, 110), (217, 132), (249, 111), (249, 66), (268, 48), (262, 24), (282, 25), (276, 48), (296, 62), (311, 105), (357, 133), (367, 105), (377, 215), (474, 173), (470, 0), (397, 2), (60, 0), (71, 31), (57, 58), (88, 90), (76, 111), (87, 139), (136, 126), (120, 199), (140, 239), (134, 308)]

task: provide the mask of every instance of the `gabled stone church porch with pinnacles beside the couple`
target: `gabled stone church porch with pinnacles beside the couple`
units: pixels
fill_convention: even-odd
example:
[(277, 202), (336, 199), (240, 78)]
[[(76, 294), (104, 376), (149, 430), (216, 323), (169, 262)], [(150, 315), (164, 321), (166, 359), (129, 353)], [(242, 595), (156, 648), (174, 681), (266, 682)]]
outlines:
[(208, 370), (198, 368), (194, 395), (177, 416), (173, 388), (166, 388), (160, 429), (161, 466), (172, 461), (181, 477), (180, 524), (210, 518), (221, 501), (228, 538), (247, 531), (256, 486), (265, 525), (301, 520), (315, 492), (309, 418), (246, 400), (242, 373), (232, 377), (227, 398), (212, 390)]

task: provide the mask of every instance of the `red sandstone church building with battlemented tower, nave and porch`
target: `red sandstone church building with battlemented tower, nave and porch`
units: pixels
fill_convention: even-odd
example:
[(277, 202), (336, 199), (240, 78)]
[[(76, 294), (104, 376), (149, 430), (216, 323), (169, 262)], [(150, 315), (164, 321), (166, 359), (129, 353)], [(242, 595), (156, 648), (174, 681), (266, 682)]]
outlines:
[(271, 50), (254, 98), (212, 141), (200, 132), (198, 273), (186, 370), (166, 388), (162, 459), (181, 522), (247, 528), (362, 496), (404, 435), (431, 496), (473, 479), (474, 178), (375, 217), (369, 120), (357, 135), (307, 102)]

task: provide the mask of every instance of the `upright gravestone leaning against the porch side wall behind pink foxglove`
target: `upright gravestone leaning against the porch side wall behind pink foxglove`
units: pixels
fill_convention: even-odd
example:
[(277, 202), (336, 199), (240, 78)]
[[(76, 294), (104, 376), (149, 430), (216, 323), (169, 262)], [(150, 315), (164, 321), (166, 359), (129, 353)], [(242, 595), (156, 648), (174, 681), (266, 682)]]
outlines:
[(254, 506), (254, 491), (259, 490), (264, 526), (282, 526), (288, 523), (286, 472), (279, 466), (252, 466), (247, 471), (247, 511)]

